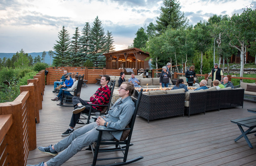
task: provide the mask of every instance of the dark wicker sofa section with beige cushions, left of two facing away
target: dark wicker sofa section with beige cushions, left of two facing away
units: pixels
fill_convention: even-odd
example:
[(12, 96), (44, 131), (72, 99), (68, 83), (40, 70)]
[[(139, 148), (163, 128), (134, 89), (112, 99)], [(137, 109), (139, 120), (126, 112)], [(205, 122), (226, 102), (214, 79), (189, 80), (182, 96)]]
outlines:
[(148, 120), (184, 116), (185, 89), (148, 91), (142, 94), (137, 115)]

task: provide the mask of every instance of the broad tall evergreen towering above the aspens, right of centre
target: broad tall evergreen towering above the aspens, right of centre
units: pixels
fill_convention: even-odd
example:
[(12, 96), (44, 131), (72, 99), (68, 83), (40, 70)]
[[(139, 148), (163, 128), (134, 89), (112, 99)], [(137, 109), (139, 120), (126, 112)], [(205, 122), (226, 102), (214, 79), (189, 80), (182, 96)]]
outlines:
[(156, 30), (162, 34), (168, 26), (177, 29), (188, 25), (187, 17), (180, 11), (180, 3), (177, 0), (163, 0), (164, 7), (161, 7), (160, 16), (156, 20)]

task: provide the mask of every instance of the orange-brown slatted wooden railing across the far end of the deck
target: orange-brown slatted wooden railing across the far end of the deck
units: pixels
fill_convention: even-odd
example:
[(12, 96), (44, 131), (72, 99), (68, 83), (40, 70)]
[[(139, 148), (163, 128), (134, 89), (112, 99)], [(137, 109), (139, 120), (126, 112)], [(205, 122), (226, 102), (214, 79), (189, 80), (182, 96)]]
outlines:
[[(113, 76), (119, 76), (121, 72), (124, 72), (124, 69), (89, 69), (89, 68), (82, 68), (81, 67), (72, 67), (72, 68), (68, 68), (68, 67), (60, 67), (60, 69), (56, 69), (56, 68), (46, 68), (45, 70), (48, 71), (48, 74), (46, 75), (46, 85), (53, 85), (54, 81), (56, 81), (56, 79), (60, 79), (63, 75), (63, 71), (67, 70), (68, 73), (77, 73), (78, 74), (84, 74), (84, 79), (88, 80), (88, 84), (93, 84), (96, 83), (96, 78), (100, 79), (100, 75), (113, 75)], [(137, 70), (133, 70), (133, 72), (135, 73), (135, 75), (137, 75)]]

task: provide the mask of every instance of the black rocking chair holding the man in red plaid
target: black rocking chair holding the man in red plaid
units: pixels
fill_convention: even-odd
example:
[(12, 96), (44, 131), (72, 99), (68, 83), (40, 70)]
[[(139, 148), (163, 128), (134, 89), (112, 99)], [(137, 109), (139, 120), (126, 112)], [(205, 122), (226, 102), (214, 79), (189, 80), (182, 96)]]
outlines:
[[(90, 123), (90, 118), (91, 116), (95, 116), (95, 113), (92, 112), (92, 106), (101, 106), (101, 107), (107, 107), (107, 110), (105, 113), (100, 113), (100, 115), (107, 115), (108, 114), (108, 110), (110, 108), (110, 104), (111, 104), (111, 99), (112, 99), (112, 95), (113, 95), (113, 92), (114, 92), (114, 88), (115, 88), (115, 84), (116, 84), (116, 80), (114, 80), (114, 82), (111, 82), (109, 81), (108, 82), (108, 87), (111, 89), (111, 93), (110, 93), (110, 97), (109, 97), (109, 102), (108, 102), (108, 105), (99, 105), (99, 104), (92, 104), (92, 103), (89, 103), (90, 105), (90, 111), (89, 113), (81, 113), (80, 114), (80, 117), (78, 120), (77, 120), (77, 124), (89, 124)], [(90, 101), (86, 101), (86, 102), (90, 102)], [(86, 122), (85, 122), (85, 121)]]

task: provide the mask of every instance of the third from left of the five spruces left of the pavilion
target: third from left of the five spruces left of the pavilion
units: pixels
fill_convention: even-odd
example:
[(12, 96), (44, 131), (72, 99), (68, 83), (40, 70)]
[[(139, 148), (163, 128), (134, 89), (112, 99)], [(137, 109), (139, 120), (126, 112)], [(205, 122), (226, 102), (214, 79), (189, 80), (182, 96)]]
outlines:
[(87, 54), (89, 53), (89, 49), (90, 49), (90, 38), (91, 38), (90, 25), (88, 22), (86, 22), (82, 30), (82, 36), (79, 38), (80, 49), (79, 49), (78, 56), (81, 64), (88, 59)]

